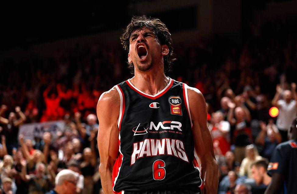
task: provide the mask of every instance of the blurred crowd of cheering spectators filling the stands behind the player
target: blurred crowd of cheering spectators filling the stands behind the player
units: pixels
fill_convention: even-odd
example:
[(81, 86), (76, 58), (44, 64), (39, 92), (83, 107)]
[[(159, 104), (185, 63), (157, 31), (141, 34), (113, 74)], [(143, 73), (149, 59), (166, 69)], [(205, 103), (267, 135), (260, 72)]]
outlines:
[[(297, 113), (296, 34), (267, 23), (242, 48), (215, 38), (175, 45), (174, 52), (168, 75), (198, 88), (207, 102), (219, 193), (264, 193), (272, 151), (287, 140)], [(2, 61), (0, 193), (49, 192), (65, 169), (77, 173), (77, 193), (102, 193), (96, 103), (102, 92), (131, 77), (126, 59), (121, 48), (78, 43), (49, 57), (31, 53)], [(277, 117), (269, 114), (272, 106)], [(56, 120), (65, 127), (55, 138), (50, 132), (40, 140), (18, 133), (23, 123)]]

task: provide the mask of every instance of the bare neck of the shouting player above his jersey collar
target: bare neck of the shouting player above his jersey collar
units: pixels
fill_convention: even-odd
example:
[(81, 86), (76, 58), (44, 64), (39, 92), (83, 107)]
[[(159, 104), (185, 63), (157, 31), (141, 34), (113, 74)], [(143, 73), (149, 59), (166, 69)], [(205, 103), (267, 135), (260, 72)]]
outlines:
[(155, 95), (166, 87), (169, 78), (165, 76), (164, 71), (152, 69), (148, 72), (135, 71), (135, 76), (130, 81), (140, 91)]

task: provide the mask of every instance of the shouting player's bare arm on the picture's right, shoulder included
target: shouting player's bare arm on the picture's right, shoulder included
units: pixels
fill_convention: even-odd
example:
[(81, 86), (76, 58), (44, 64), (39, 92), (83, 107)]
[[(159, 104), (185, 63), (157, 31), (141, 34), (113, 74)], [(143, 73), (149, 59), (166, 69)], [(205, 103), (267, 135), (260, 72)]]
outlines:
[(195, 150), (201, 161), (202, 175), (205, 173), (203, 193), (215, 194), (218, 190), (218, 164), (215, 160), (212, 137), (206, 124), (205, 100), (202, 93), (196, 88), (189, 87), (187, 92), (193, 123)]

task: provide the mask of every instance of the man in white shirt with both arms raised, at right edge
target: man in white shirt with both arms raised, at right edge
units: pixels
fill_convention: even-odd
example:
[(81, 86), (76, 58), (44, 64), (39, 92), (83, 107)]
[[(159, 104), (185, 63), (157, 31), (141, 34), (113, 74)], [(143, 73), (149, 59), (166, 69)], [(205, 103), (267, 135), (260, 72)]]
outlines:
[[(272, 105), (278, 107), (279, 110), (276, 125), (281, 133), (283, 142), (288, 140), (288, 129), (297, 113), (297, 94), (295, 83), (291, 84), (291, 89), (292, 91), (285, 90), (283, 92), (280, 85), (277, 85), (276, 94), (272, 100)], [(283, 93), (283, 99), (279, 100), (281, 93)]]

